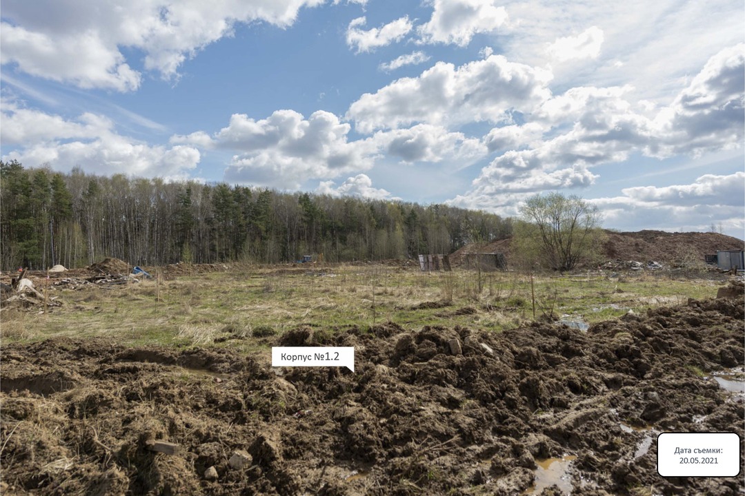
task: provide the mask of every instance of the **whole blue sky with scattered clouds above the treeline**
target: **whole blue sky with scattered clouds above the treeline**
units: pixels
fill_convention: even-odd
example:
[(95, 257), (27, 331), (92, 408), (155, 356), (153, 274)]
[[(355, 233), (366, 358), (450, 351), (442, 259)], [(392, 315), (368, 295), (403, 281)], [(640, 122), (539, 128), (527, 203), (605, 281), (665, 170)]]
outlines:
[(25, 167), (745, 239), (745, 4), (1, 0)]

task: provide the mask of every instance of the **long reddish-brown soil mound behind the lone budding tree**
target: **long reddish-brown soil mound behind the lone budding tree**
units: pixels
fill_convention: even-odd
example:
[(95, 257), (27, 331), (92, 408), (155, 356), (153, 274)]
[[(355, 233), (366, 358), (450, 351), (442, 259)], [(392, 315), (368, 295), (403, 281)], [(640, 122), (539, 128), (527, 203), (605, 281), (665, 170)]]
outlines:
[[(511, 239), (499, 239), (487, 244), (466, 245), (450, 255), (450, 263), (462, 265), (466, 254), (503, 253), (510, 262)], [(636, 231), (617, 233), (606, 231), (603, 257), (606, 260), (631, 260), (665, 265), (679, 265), (697, 261), (720, 250), (743, 250), (745, 242), (719, 233), (667, 233), (665, 231)]]

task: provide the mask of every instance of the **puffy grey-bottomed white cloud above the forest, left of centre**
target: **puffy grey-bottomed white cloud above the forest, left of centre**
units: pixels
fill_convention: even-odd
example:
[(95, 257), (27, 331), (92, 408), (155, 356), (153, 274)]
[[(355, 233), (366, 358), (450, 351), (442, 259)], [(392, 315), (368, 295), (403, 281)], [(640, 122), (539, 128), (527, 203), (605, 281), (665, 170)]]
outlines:
[(261, 120), (236, 114), (215, 133), (212, 146), (242, 152), (226, 168), (225, 181), (297, 189), (309, 178), (373, 167), (375, 147), (368, 141), (347, 141), (349, 130), (349, 124), (323, 111), (308, 119), (292, 110)]

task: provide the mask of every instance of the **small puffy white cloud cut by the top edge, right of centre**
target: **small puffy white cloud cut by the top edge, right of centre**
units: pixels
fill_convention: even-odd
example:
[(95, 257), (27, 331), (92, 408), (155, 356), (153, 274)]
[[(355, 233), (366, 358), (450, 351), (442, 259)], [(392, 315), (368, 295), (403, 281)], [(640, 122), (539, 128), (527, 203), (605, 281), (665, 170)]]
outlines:
[(417, 31), (424, 43), (464, 47), (476, 33), (490, 33), (507, 22), (507, 10), (494, 0), (434, 0), (431, 19)]

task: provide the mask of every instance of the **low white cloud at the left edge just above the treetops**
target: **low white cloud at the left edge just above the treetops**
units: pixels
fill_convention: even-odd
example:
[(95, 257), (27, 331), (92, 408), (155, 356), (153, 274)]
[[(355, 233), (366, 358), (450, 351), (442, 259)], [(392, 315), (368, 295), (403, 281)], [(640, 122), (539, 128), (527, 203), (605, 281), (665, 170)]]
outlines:
[(49, 163), (55, 170), (82, 167), (90, 173), (124, 173), (145, 177), (186, 178), (200, 152), (192, 146), (150, 146), (119, 135), (107, 117), (86, 113), (77, 120), (22, 109), (3, 102), (3, 144), (17, 146), (4, 160), (28, 167)]

